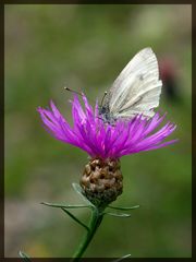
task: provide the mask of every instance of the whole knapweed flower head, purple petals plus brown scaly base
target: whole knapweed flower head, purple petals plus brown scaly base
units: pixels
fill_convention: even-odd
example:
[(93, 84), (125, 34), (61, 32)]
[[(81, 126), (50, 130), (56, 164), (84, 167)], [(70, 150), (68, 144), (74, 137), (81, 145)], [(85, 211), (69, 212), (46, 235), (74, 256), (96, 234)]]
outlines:
[[(83, 193), (96, 206), (107, 206), (122, 193), (120, 158), (142, 151), (163, 147), (176, 140), (166, 142), (175, 129), (167, 122), (158, 129), (166, 115), (157, 112), (150, 119), (137, 115), (132, 119), (106, 122), (99, 115), (98, 103), (93, 108), (83, 94), (85, 110), (77, 95), (72, 102), (73, 126), (63, 118), (53, 102), (51, 109), (38, 108), (46, 129), (58, 140), (85, 151), (90, 160), (81, 178)], [(156, 131), (157, 130), (157, 131)]]

